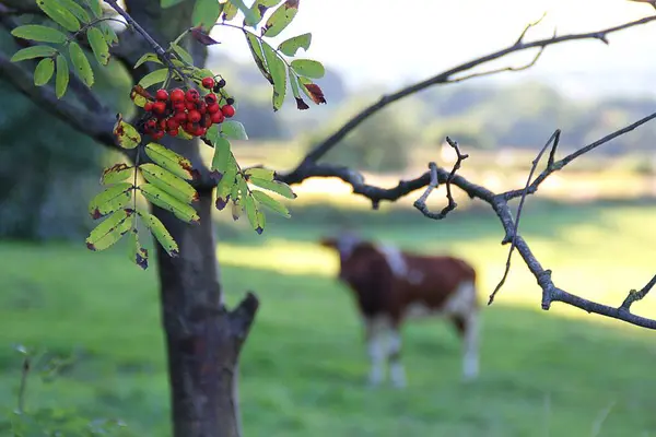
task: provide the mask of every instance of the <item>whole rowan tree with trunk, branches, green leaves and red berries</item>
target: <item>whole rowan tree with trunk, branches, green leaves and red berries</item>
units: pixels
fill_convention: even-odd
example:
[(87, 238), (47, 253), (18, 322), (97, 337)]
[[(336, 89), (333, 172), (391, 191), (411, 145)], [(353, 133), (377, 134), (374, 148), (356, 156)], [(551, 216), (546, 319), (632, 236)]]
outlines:
[[(0, 0), (2, 25), (17, 45), (14, 52), (0, 54), (0, 73), (72, 128), (122, 152), (130, 162), (109, 166), (101, 175), (98, 194), (89, 206), (89, 213), (99, 223), (85, 243), (90, 250), (98, 251), (129, 238), (131, 262), (147, 269), (151, 255), (142, 247), (143, 233), (148, 231), (154, 237), (174, 436), (241, 435), (237, 363), (259, 304), (254, 293), (247, 293), (233, 309), (223, 304), (212, 210), (230, 213), (235, 220), (246, 217), (254, 232), (262, 234), (266, 214), (290, 216), (281, 197), (293, 200), (296, 196), (291, 186), (312, 177), (341, 178), (355, 194), (368, 198), (374, 209), (382, 201), (395, 201), (426, 187), (414, 206), (432, 220), (445, 218), (457, 206), (450, 190), (452, 186), (458, 187), (495, 211), (505, 232), (503, 244), (511, 245), (507, 264), (517, 249), (542, 288), (544, 309), (563, 302), (588, 312), (656, 328), (656, 321), (630, 312), (631, 304), (648, 293), (656, 276), (641, 292), (632, 291), (618, 308), (593, 303), (558, 288), (550, 271), (540, 265), (518, 233), (526, 197), (535, 193), (550, 174), (656, 118), (656, 114), (561, 160), (555, 157), (560, 138), (555, 130), (534, 162), (526, 187), (503, 193), (494, 193), (457, 174), (468, 156), (458, 147), (457, 139), (446, 139), (458, 154), (452, 169), (429, 163), (425, 174), (399, 181), (393, 188), (368, 185), (355, 169), (319, 163), (364, 120), (406, 96), (430, 86), (527, 69), (538, 61), (546, 47), (554, 44), (579, 39), (608, 44), (611, 33), (655, 21), (656, 16), (593, 33), (554, 34), (526, 42), (527, 31), (535, 25), (530, 24), (505, 48), (383, 96), (317, 142), (295, 168), (279, 173), (266, 165), (243, 168), (235, 160), (230, 140), (246, 139), (248, 129), (238, 121), (239, 96), (230, 92), (233, 78), (208, 70), (204, 61), (207, 46), (219, 43), (210, 36), (213, 27), (243, 33), (254, 68), (271, 84), (271, 110), (279, 110), (285, 98), (293, 98), (300, 110), (308, 109), (308, 102), (325, 104), (320, 86), (314, 83), (324, 75), (323, 64), (300, 58), (301, 49), (308, 50), (312, 34), (270, 43), (295, 19), (300, 0), (256, 0), (248, 4), (242, 0), (124, 3), (125, 7), (116, 0)], [(527, 64), (471, 72), (525, 50), (536, 51)], [(130, 97), (134, 110), (130, 114), (114, 114), (93, 92), (94, 71), (112, 60), (120, 62), (133, 79)], [(213, 147), (210, 165), (200, 156), (200, 147), (208, 146)], [(547, 150), (547, 167), (534, 179)], [(446, 184), (447, 205), (441, 212), (432, 212), (425, 201), (440, 184)], [(520, 199), (516, 216), (508, 205), (513, 199)], [(490, 303), (497, 290), (491, 294)]]

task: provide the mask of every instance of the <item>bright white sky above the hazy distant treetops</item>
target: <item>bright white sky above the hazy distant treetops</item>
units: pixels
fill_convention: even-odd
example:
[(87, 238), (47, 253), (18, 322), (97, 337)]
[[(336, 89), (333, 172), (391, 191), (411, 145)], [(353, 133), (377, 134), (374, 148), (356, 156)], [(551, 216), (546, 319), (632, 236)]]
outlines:
[[(628, 0), (301, 0), (294, 22), (277, 38), (312, 32), (308, 57), (342, 73), (349, 86), (388, 85), (429, 78), (471, 58), (514, 43), (525, 25), (542, 22), (527, 40), (591, 32), (654, 14), (649, 4)], [(214, 50), (249, 61), (239, 31), (218, 27), (223, 44)], [(656, 22), (598, 40), (564, 43), (548, 48), (527, 72), (501, 74), (497, 81), (539, 78), (573, 94), (648, 92), (656, 79)], [(520, 66), (525, 51), (504, 63)], [(512, 75), (512, 78), (511, 78)]]

